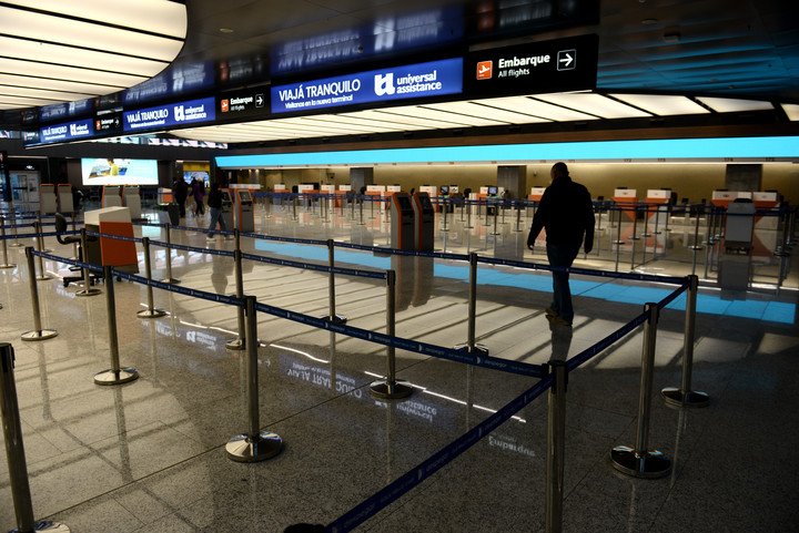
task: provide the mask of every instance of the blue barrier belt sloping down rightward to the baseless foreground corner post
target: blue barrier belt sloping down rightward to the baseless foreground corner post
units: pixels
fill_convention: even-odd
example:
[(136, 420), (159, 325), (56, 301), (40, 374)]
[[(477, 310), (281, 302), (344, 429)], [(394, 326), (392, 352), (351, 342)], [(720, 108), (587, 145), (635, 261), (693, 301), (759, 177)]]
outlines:
[(506, 359), (497, 359), (494, 357), (473, 357), (472, 355), (455, 350), (453, 348), (444, 348), (418, 340), (392, 337), (386, 334), (378, 334), (368, 329), (345, 326), (342, 324), (332, 322), (324, 318), (312, 317), (309, 315), (303, 315), (302, 312), (290, 311), (266, 304), (259, 303), (255, 305), (255, 309), (267, 315), (285, 318), (287, 320), (293, 320), (295, 322), (304, 324), (306, 326), (326, 329), (328, 331), (346, 335), (347, 337), (353, 337), (356, 339), (367, 340), (377, 345), (393, 346), (395, 348), (400, 348), (406, 351), (413, 351), (425, 356), (436, 357), (438, 359), (446, 359), (449, 361), (474, 365), (476, 367), (489, 368), (492, 370), (500, 370), (505, 372), (517, 373), (520, 376), (530, 376), (534, 378), (540, 378), (546, 375), (546, 370), (542, 365), (529, 365)]

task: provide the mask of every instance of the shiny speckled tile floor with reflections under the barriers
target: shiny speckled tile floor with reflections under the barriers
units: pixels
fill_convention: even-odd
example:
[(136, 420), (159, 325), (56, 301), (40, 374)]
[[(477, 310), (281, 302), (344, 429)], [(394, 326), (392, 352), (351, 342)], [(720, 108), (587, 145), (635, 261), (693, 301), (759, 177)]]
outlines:
[[(367, 212), (360, 225), (357, 216), (351, 221), (348, 215), (334, 212), (325, 222), (318, 211), (301, 209), (295, 221), (290, 209), (259, 209), (255, 223), (272, 235), (388, 244), (384, 219)], [(492, 222), (483, 227), (493, 229)], [(189, 217), (185, 223), (203, 221)], [(543, 258), (543, 247), (534, 256), (524, 252), (526, 234), (513, 232), (514, 224), (499, 225), (500, 235), (462, 226), (439, 232), (436, 247)], [(164, 238), (152, 227), (136, 228), (136, 235)], [(232, 242), (221, 238), (208, 244), (202, 233), (173, 232), (172, 238), (198, 248), (232, 249)], [(616, 249), (610, 236), (604, 238), (581, 266), (615, 269)], [(72, 253), (53, 239), (45, 244), (54, 254)], [(680, 380), (682, 298), (661, 314), (658, 326), (649, 432), (650, 448), (674, 460), (670, 475), (628, 478), (608, 459), (614, 445), (635, 440), (640, 331), (573, 372), (564, 529), (796, 531), (796, 265), (782, 265), (787, 276), (779, 276), (779, 289), (769, 265), (756, 271), (762, 283), (754, 290), (721, 290), (711, 265), (705, 275), (705, 256), (694, 265), (690, 253), (680, 255), (669, 246), (668, 257), (648, 262), (634, 260), (631, 250), (623, 248), (619, 270), (635, 266), (684, 275), (694, 269), (702, 278), (694, 385), (710, 394), (711, 403), (676, 410), (660, 400), (659, 390)], [(242, 247), (322, 264), (327, 254), (269, 240), (243, 239)], [(284, 450), (265, 462), (236, 463), (224, 451), (233, 434), (247, 429), (245, 352), (224, 347), (235, 338), (234, 308), (155, 290), (155, 306), (169, 315), (140, 319), (135, 314), (145, 305), (144, 289), (115, 283), (120, 359), (141, 378), (100, 387), (92, 378), (110, 366), (105, 295), (80, 298), (58, 279), (38, 281), (42, 325), (59, 335), (23, 342), (20, 335), (33, 327), (29, 275), (21, 248), (9, 253), (19, 266), (0, 270), (0, 341), (11, 342), (17, 356), (34, 514), (62, 521), (73, 532), (281, 532), (297, 522), (327, 524), (536, 381), (397, 350), (398, 377), (415, 392), (404, 400), (378, 400), (368, 385), (386, 372), (384, 347), (259, 315), (260, 421), (284, 439)], [(341, 248), (336, 258), (342, 266), (397, 271), (397, 336), (441, 346), (466, 340), (468, 271), (463, 263)], [(231, 259), (195, 250), (175, 252), (172, 260), (182, 287), (218, 294), (235, 289)], [(154, 277), (165, 275), (164, 263), (159, 249)], [(44, 268), (68, 274), (50, 260)], [(550, 331), (544, 316), (548, 273), (481, 266), (478, 284), (478, 342), (493, 356), (536, 363), (579, 353), (669, 290), (574, 276), (577, 316), (566, 335)], [(244, 287), (264, 304), (312, 316), (327, 312), (323, 273), (247, 264)], [(340, 276), (336, 296), (336, 311), (350, 325), (384, 330), (383, 281)], [(357, 531), (544, 531), (546, 413), (546, 398), (535, 400)], [(14, 525), (8, 465), (0, 461), (0, 530)]]

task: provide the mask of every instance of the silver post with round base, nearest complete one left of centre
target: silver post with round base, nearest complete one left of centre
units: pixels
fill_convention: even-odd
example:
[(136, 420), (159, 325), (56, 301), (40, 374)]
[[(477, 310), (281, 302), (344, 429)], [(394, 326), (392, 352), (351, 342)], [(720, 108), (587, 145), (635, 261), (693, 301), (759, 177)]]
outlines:
[[(246, 338), (257, 339), (257, 316), (255, 312), (255, 297), (244, 298), (246, 308)], [(250, 431), (233, 435), (225, 445), (227, 459), (236, 462), (252, 463), (264, 461), (277, 455), (283, 450), (283, 439), (276, 433), (261, 431), (261, 414), (259, 412), (259, 363), (257, 340), (247, 342), (247, 411)]]

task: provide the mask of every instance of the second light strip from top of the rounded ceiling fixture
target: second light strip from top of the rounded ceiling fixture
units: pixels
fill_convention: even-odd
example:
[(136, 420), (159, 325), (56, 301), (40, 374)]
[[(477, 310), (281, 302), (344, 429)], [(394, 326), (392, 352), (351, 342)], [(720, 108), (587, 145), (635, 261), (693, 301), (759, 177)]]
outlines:
[[(146, 2), (138, 2), (138, 6), (143, 3)], [(131, 6), (128, 6), (125, 11), (130, 12)], [(124, 25), (130, 27), (130, 23)], [(65, 19), (60, 16), (47, 16), (7, 7), (0, 7), (0, 34), (150, 58), (165, 62), (172, 61), (183, 45), (182, 41), (173, 38), (151, 35), (135, 30), (110, 28), (92, 22)]]

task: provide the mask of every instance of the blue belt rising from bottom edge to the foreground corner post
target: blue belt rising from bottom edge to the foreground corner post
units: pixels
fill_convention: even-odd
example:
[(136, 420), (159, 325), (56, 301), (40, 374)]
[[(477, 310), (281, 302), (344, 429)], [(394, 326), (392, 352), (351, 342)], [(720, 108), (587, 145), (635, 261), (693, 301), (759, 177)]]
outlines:
[(510, 400), (483, 422), (435, 452), (416, 468), (404, 473), (374, 495), (327, 524), (324, 531), (330, 533), (346, 533), (357, 527), (427, 478), (449, 464), (454, 459), (476, 444), (483, 437), (494, 431), (529, 402), (546, 392), (553, 386), (553, 382), (554, 378), (552, 376), (548, 375), (544, 377), (520, 396)]

